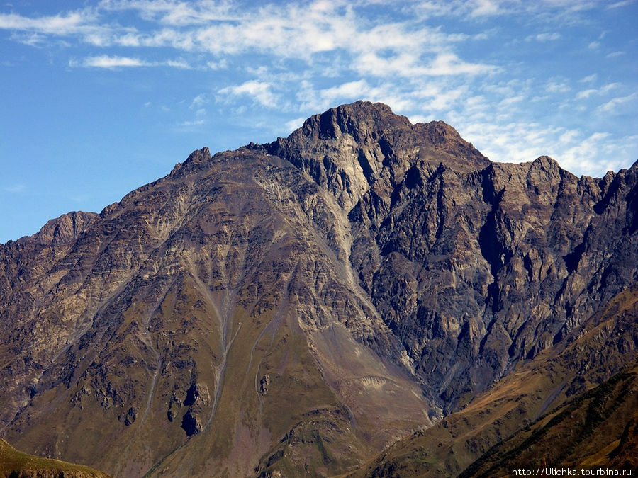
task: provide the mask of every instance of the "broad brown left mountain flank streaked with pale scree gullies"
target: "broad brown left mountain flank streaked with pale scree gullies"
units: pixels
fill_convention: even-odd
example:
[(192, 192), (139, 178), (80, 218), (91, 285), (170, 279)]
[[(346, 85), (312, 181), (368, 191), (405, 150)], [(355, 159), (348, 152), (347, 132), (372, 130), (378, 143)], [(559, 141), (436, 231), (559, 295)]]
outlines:
[(119, 476), (325, 474), (429, 423), (400, 344), (311, 220), (339, 224), (331, 201), (281, 159), (203, 149), (52, 260), (4, 246), (38, 263), (5, 275), (28, 297), (3, 297), (5, 436)]

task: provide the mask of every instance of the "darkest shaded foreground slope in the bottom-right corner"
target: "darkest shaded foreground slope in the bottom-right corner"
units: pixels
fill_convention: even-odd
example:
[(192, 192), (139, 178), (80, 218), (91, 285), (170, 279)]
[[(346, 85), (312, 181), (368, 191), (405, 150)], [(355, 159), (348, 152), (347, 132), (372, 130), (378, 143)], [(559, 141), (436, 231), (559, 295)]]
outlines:
[[(514, 467), (638, 469), (638, 366), (614, 375), (488, 450), (462, 477), (509, 476)], [(627, 421), (627, 417), (629, 421)]]

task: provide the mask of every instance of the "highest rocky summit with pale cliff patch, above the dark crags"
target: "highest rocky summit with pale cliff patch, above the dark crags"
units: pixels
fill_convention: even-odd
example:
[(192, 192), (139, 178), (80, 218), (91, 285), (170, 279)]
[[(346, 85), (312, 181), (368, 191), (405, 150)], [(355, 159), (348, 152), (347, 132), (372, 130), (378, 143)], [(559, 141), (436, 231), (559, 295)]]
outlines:
[(486, 157), (443, 121), (413, 125), (384, 103), (356, 101), (311, 116), (287, 138), (267, 145), (270, 154), (306, 171), (351, 210), (374, 184), (389, 195), (408, 169), (445, 166), (476, 171)]

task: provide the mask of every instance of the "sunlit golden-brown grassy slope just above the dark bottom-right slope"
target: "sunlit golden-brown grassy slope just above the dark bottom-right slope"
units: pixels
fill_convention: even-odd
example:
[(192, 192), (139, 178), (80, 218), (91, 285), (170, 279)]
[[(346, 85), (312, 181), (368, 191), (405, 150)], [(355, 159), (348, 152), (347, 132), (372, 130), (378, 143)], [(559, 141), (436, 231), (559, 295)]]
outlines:
[[(578, 397), (573, 403), (589, 403), (591, 398), (587, 397), (600, 395), (602, 401), (607, 403), (612, 396), (617, 396), (622, 406), (610, 404), (610, 413), (605, 411), (598, 416), (595, 433), (600, 434), (600, 440), (597, 443), (580, 443), (578, 439), (581, 435), (572, 433), (572, 441), (563, 436), (564, 442), (556, 447), (551, 434), (540, 434), (536, 436), (536, 448), (525, 455), (532, 461), (542, 456), (549, 458), (549, 455), (535, 454), (533, 450), (540, 453), (540, 450), (554, 446), (559, 450), (571, 450), (572, 455), (569, 456), (572, 456), (572, 462), (578, 461), (576, 457), (585, 460), (615, 443), (625, 425), (632, 423), (636, 396), (627, 390), (635, 387), (637, 319), (638, 287), (634, 286), (614, 297), (603, 310), (566, 337), (564, 343), (549, 348), (532, 362), (510, 373), (478, 395), (463, 410), (450, 414), (435, 426), (399, 440), (362, 470), (349, 476), (457, 476), (493, 445), (512, 436), (520, 428), (537, 430), (542, 423), (547, 423), (547, 419), (539, 422), (540, 425), (531, 426), (532, 423), (566, 401)], [(626, 368), (627, 363), (633, 365), (626, 369), (629, 372), (622, 375), (622, 380), (625, 380), (625, 385), (629, 384), (629, 389), (624, 385), (618, 388), (615, 385), (617, 382), (610, 382), (606, 385), (608, 388), (588, 392)], [(612, 391), (608, 393), (609, 388)], [(520, 437), (528, 434), (522, 433)], [(606, 443), (603, 443), (605, 440)], [(627, 449), (631, 449), (632, 440), (625, 440)], [(508, 450), (506, 445), (499, 445), (496, 450), (500, 450), (501, 446), (503, 450)], [(510, 465), (514, 462), (517, 461), (510, 462)], [(524, 465), (523, 462), (517, 463)], [(473, 473), (468, 476), (473, 476)], [(496, 475), (488, 473), (487, 476)]]

